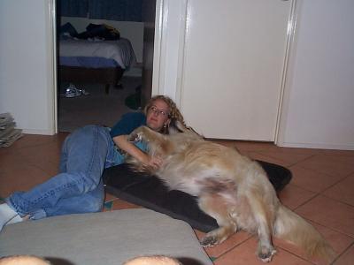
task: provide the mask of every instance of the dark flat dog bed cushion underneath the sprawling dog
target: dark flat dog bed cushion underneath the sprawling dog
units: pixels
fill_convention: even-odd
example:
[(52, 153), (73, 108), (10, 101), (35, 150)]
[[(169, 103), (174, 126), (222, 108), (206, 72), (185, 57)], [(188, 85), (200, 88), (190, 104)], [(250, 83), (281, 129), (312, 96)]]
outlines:
[[(290, 170), (273, 163), (258, 163), (266, 170), (277, 192), (289, 183)], [(106, 191), (120, 199), (183, 220), (199, 231), (208, 232), (219, 227), (214, 218), (199, 209), (194, 196), (177, 190), (168, 191), (157, 177), (137, 173), (127, 164), (104, 170), (103, 179)]]

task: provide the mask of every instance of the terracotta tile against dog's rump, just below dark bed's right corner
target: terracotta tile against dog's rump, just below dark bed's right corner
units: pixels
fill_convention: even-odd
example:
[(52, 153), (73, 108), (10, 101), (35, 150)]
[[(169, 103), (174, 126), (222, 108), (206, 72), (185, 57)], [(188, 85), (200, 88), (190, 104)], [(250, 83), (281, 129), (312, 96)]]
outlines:
[(316, 193), (288, 184), (283, 190), (281, 190), (278, 196), (284, 206), (290, 209), (295, 209), (316, 196)]

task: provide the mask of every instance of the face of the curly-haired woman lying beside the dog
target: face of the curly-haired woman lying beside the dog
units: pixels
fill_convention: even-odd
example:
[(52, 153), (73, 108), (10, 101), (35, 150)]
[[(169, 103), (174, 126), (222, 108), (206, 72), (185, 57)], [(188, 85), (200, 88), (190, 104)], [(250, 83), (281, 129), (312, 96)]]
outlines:
[(169, 124), (169, 114), (170, 110), (167, 103), (158, 99), (155, 102), (152, 102), (151, 107), (148, 110), (146, 125), (148, 125), (150, 129), (158, 132), (164, 127), (164, 125)]

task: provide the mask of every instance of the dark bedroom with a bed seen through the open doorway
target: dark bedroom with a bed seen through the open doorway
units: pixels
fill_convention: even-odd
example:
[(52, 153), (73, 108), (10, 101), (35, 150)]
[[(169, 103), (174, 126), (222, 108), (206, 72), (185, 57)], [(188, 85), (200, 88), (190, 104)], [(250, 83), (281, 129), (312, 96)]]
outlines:
[(57, 0), (58, 132), (112, 126), (151, 96), (156, 0)]

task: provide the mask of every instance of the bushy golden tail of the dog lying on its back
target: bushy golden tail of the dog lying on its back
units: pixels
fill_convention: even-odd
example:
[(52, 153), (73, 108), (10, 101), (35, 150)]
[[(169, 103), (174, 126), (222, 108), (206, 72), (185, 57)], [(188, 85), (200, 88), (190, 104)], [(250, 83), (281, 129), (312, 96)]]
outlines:
[(275, 219), (274, 236), (304, 249), (309, 257), (333, 261), (335, 251), (310, 223), (280, 205)]

